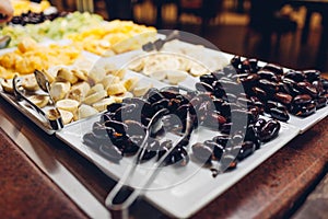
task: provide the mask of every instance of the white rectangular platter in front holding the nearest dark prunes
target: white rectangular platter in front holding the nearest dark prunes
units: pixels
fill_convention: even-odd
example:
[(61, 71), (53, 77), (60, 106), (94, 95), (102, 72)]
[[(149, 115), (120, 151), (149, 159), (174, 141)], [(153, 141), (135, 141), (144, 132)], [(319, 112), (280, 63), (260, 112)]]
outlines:
[[(132, 158), (124, 158), (119, 164), (113, 163), (96, 150), (83, 143), (83, 135), (91, 131), (93, 123), (97, 120), (99, 120), (99, 116), (80, 122), (57, 131), (56, 136), (95, 163), (105, 174), (118, 180), (124, 174), (126, 166), (131, 163)], [(201, 168), (192, 159), (184, 168), (163, 168), (150, 185), (150, 188), (144, 191), (144, 197), (169, 216), (178, 218), (189, 217), (260, 165), (298, 132), (298, 128), (282, 124), (279, 136), (276, 139), (262, 145), (254, 154), (239, 162), (237, 169), (220, 174), (216, 177), (212, 176), (209, 169)], [(219, 135), (219, 132), (215, 134), (214, 131), (200, 128), (194, 134), (190, 146), (194, 142), (211, 139), (215, 135)], [(138, 187), (137, 182), (140, 182), (140, 178), (145, 175), (150, 164), (151, 162), (144, 163), (136, 169), (129, 185)]]

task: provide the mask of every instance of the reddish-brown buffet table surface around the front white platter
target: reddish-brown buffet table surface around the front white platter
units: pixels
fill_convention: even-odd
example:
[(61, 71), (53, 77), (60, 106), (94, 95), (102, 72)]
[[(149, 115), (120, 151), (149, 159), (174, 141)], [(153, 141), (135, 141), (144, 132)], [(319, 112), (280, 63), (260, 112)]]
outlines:
[[(57, 138), (46, 135), (2, 97), (0, 116), (3, 216), (110, 217), (104, 199), (115, 185), (113, 180)], [(290, 216), (327, 172), (327, 127), (325, 118), (297, 136), (194, 217)], [(163, 217), (142, 199), (130, 212), (134, 218)]]

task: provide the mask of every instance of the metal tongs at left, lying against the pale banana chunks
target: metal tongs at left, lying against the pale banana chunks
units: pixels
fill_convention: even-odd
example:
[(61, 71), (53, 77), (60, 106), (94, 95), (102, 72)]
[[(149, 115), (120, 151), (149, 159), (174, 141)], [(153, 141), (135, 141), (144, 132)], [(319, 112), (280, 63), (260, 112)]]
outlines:
[[(37, 80), (37, 82), (39, 83), (39, 81)], [(49, 111), (51, 111), (51, 114), (47, 115), (43, 110), (40, 110), (37, 105), (35, 105), (32, 101), (30, 101), (26, 96), (25, 96), (25, 90), (22, 87), (22, 80), (19, 76), (15, 76), (12, 80), (12, 87), (14, 90), (14, 96), (17, 101), (25, 101), (34, 111), (36, 111), (50, 126), (50, 128), (52, 130), (59, 130), (63, 127), (62, 124), (62, 119), (60, 116), (60, 113), (58, 111), (58, 108), (54, 105), (54, 100), (51, 99), (50, 94), (48, 93), (51, 102), (52, 102), (52, 108), (50, 108)], [(40, 84), (39, 84), (40, 87)]]

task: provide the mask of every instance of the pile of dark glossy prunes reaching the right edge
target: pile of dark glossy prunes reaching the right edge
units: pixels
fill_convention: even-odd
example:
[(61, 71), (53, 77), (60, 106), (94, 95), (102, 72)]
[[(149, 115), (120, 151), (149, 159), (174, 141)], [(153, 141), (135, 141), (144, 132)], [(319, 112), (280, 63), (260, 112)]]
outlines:
[(239, 56), (231, 59), (231, 66), (235, 71), (231, 78), (244, 85), (247, 99), (260, 102), (272, 118), (288, 122), (289, 113), (306, 117), (327, 105), (328, 81), (318, 70), (284, 72), (278, 65), (259, 67), (257, 59)]

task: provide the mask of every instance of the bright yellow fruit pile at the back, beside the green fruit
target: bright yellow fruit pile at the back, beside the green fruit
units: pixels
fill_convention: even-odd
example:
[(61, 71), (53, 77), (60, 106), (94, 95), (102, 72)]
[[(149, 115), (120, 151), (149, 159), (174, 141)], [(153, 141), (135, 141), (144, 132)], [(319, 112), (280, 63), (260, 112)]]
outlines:
[(141, 48), (156, 37), (156, 30), (131, 21), (110, 21), (80, 33), (72, 33), (68, 38), (79, 43), (87, 51), (110, 56)]

